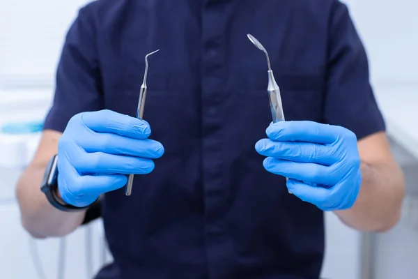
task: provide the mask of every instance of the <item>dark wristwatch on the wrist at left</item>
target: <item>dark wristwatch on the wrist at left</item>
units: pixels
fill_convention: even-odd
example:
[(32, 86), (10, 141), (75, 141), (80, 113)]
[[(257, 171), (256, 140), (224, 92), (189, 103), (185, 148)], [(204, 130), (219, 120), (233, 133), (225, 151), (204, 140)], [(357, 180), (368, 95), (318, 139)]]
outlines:
[(47, 167), (45, 168), (45, 173), (42, 178), (42, 183), (40, 184), (40, 190), (48, 199), (48, 202), (52, 204), (56, 209), (66, 212), (75, 212), (75, 211), (84, 211), (88, 209), (91, 205), (84, 207), (77, 207), (66, 202), (57, 195), (58, 193), (58, 154), (54, 155), (49, 159)]

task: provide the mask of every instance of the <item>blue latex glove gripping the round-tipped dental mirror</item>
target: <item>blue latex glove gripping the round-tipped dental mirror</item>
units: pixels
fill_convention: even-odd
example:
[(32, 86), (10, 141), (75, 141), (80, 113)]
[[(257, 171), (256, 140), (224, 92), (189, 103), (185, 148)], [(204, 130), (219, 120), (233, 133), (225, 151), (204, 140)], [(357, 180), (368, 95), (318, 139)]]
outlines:
[(256, 143), (265, 169), (288, 177), (288, 190), (324, 211), (349, 209), (362, 183), (357, 137), (312, 121), (281, 121)]

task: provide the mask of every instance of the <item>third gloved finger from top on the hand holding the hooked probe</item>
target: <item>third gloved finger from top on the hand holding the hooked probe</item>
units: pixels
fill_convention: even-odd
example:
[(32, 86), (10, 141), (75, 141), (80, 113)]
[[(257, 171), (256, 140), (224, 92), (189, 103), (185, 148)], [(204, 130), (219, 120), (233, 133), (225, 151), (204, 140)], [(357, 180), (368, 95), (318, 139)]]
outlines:
[(73, 162), (79, 174), (149, 174), (153, 160), (104, 152), (85, 153)]

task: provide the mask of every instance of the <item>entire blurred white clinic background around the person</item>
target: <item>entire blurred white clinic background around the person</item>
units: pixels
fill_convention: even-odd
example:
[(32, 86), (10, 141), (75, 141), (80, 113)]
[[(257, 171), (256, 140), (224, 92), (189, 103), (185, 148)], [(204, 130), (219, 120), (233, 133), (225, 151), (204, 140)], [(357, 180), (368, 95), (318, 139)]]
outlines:
[[(345, 2), (369, 54), (376, 98), (408, 190), (401, 221), (384, 234), (355, 232), (326, 214), (323, 277), (417, 278), (418, 2)], [(89, 279), (111, 260), (100, 220), (65, 239), (31, 239), (20, 225), (14, 193), (52, 102), (63, 38), (84, 3), (0, 2), (0, 278)]]

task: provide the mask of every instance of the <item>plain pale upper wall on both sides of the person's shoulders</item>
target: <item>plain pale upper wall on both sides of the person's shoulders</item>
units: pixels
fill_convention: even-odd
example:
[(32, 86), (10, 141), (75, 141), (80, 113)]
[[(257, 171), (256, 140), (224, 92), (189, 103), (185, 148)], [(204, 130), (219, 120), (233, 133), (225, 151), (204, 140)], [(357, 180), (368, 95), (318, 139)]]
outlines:
[[(51, 84), (63, 36), (86, 0), (0, 1), (0, 88), (4, 80)], [(418, 2), (346, 0), (375, 82), (418, 80)], [(25, 7), (25, 8), (22, 8)], [(2, 82), (3, 80), (3, 82)]]

